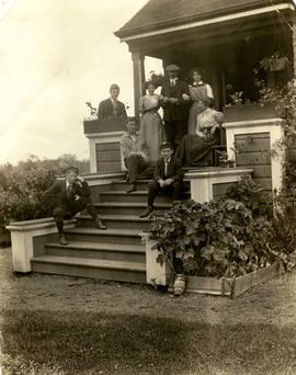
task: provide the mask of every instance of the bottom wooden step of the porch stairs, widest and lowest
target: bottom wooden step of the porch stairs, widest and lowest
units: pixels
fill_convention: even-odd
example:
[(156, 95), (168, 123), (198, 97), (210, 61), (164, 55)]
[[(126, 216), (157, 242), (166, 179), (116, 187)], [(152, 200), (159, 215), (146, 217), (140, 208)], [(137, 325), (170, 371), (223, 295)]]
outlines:
[(145, 263), (56, 255), (35, 257), (31, 263), (33, 272), (129, 283), (146, 282)]

